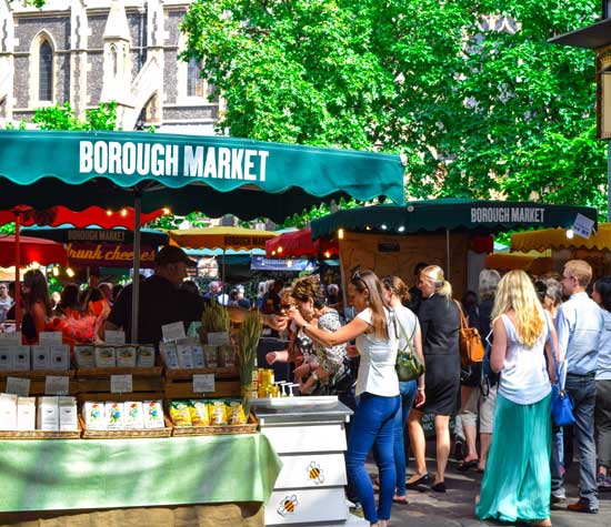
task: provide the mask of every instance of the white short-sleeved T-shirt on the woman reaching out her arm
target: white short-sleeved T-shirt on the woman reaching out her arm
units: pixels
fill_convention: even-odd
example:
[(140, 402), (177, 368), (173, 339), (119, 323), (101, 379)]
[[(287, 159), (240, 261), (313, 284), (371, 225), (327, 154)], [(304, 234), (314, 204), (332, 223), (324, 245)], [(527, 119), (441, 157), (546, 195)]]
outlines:
[[(365, 333), (357, 337), (357, 348), (361, 355), (357, 377), (357, 395), (364, 392), (384, 397), (399, 395), (399, 379), (394, 371), (398, 348), (394, 321), (391, 320), (390, 312), (385, 313), (390, 338), (378, 338), (373, 333)], [(372, 325), (369, 307), (361, 311), (357, 317)]]

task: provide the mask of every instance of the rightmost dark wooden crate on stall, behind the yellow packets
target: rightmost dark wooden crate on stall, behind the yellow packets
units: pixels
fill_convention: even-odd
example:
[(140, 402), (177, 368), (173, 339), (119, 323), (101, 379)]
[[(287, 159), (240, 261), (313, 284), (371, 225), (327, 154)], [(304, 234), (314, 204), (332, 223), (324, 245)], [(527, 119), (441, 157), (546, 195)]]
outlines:
[[(193, 375), (214, 374), (214, 392), (193, 392)], [(163, 375), (163, 398), (167, 401), (202, 397), (240, 397), (240, 374), (238, 368), (166, 368)]]

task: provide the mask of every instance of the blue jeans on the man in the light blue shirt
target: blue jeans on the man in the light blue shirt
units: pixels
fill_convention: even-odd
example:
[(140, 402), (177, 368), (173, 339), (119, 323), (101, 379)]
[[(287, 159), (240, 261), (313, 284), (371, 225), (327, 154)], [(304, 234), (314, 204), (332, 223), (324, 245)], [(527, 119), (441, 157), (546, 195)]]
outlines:
[[(573, 402), (575, 418), (573, 430), (579, 452), (579, 497), (590, 507), (598, 508), (597, 447), (594, 443), (597, 382), (593, 375), (568, 374), (564, 389)], [(555, 448), (553, 449), (555, 450)], [(558, 466), (558, 453), (552, 453), (552, 495), (561, 497), (564, 495), (564, 486), (562, 476), (553, 469), (554, 465)]]

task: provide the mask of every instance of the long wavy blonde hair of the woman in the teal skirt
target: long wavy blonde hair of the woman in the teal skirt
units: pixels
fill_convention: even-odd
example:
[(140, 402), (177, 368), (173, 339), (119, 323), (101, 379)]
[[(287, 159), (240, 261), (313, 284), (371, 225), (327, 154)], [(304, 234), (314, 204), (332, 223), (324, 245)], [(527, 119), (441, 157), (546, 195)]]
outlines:
[(492, 324), (511, 310), (515, 312), (518, 339), (532, 347), (543, 332), (545, 320), (534, 285), (521, 270), (510, 271), (499, 282), (492, 310)]

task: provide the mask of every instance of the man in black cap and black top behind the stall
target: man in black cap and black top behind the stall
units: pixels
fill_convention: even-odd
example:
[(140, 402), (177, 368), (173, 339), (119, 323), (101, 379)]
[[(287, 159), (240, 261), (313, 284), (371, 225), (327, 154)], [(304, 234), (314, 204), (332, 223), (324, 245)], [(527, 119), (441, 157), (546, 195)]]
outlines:
[[(154, 274), (140, 282), (138, 315), (138, 344), (158, 344), (162, 339), (161, 326), (172, 322), (189, 323), (199, 321), (203, 310), (203, 298), (179, 288), (187, 277), (187, 267), (196, 266), (184, 251), (172, 245), (164, 246), (154, 259)], [(126, 332), (131, 335), (131, 284), (123, 288), (112, 306), (102, 330)], [(103, 334), (100, 335), (103, 338)]]

